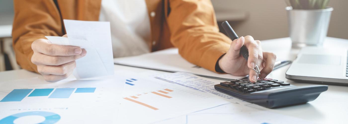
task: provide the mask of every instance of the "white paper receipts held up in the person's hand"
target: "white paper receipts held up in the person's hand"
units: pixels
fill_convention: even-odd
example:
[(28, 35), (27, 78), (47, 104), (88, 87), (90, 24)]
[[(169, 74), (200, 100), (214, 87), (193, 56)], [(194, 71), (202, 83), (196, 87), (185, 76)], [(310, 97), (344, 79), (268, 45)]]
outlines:
[(53, 44), (86, 49), (86, 56), (76, 60), (74, 76), (79, 79), (113, 75), (110, 22), (64, 19), (64, 25), (68, 38), (61, 36), (46, 36), (46, 38)]

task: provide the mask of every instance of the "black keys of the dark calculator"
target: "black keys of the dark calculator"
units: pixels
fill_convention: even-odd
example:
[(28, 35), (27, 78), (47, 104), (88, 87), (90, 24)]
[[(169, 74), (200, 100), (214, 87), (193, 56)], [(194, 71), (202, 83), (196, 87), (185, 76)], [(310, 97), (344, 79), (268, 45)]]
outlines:
[(256, 91), (282, 88), (284, 86), (290, 86), (290, 83), (284, 81), (278, 81), (271, 78), (258, 79), (256, 83), (250, 82), (248, 79), (232, 80), (230, 82), (221, 82), (222, 86), (227, 86), (232, 89), (236, 89), (237, 92), (251, 93)]

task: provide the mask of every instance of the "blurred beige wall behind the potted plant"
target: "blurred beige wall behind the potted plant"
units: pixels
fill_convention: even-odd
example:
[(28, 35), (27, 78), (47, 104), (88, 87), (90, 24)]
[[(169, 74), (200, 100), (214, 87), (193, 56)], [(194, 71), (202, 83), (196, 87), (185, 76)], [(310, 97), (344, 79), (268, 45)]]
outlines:
[[(216, 11), (246, 11), (243, 21), (230, 22), (240, 36), (252, 35), (266, 40), (288, 36), (287, 15), (284, 0), (212, 0)], [(348, 0), (331, 0), (334, 8), (328, 36), (348, 39)]]

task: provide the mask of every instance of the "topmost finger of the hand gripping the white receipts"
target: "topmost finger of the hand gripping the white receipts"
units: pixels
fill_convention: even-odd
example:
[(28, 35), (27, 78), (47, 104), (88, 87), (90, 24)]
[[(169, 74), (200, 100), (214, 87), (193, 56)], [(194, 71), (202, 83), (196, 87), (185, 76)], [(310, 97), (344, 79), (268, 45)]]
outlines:
[(49, 43), (46, 39), (35, 40), (32, 43), (32, 49), (49, 56), (72, 56), (82, 52), (80, 47), (56, 45)]

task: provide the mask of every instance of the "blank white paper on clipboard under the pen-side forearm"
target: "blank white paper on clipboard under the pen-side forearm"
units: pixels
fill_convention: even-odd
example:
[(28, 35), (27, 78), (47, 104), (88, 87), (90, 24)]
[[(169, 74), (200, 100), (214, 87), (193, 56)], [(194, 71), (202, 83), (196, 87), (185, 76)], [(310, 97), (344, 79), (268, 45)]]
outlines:
[(231, 74), (217, 74), (205, 68), (189, 63), (179, 55), (177, 48), (165, 49), (134, 57), (115, 58), (114, 63), (118, 65), (126, 65), (167, 72), (188, 72), (199, 76), (221, 80), (242, 78), (242, 76), (234, 76)]

